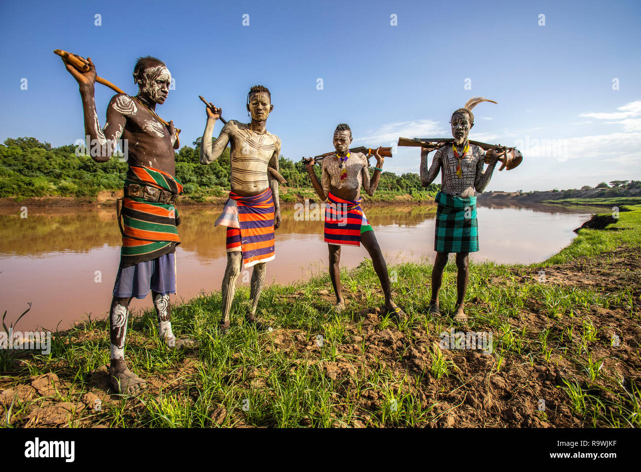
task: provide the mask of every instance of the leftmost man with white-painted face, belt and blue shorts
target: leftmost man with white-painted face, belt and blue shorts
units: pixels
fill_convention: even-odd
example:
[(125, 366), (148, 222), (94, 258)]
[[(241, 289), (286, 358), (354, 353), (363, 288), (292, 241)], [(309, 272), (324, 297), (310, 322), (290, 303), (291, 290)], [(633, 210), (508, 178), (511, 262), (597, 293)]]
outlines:
[[(174, 148), (178, 146), (179, 130), (177, 132), (172, 121), (169, 126), (163, 125), (155, 109), (156, 104), (162, 105), (167, 100), (171, 74), (161, 60), (139, 58), (133, 71), (138, 94), (113, 96), (107, 107), (106, 124), (101, 129), (94, 100), (96, 67), (91, 58), (82, 60), (90, 66), (87, 73), (79, 72), (66, 62), (65, 66), (79, 84), (92, 159), (106, 162), (121, 137), (128, 142), (121, 264), (110, 309), (109, 380), (113, 389), (132, 394), (146, 386), (144, 380), (129, 371), (124, 360), (132, 297), (144, 299), (151, 290), (158, 315), (158, 333), (165, 345), (174, 348), (191, 342), (176, 340), (169, 310), (169, 293), (176, 293), (174, 254), (180, 242), (176, 231), (178, 212), (173, 206), (182, 190), (182, 184), (174, 177)], [(120, 213), (118, 220), (120, 224)]]

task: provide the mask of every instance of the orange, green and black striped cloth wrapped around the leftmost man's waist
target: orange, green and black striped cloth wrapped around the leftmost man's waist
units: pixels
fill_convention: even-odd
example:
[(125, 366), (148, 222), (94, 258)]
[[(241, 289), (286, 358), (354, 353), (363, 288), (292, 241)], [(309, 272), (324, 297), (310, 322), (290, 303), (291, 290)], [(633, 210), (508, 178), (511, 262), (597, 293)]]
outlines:
[[(183, 184), (162, 170), (147, 166), (129, 166), (125, 187), (146, 185), (178, 195)], [(151, 202), (145, 198), (122, 199), (121, 268), (151, 261), (174, 252), (180, 244), (178, 210), (172, 204)]]

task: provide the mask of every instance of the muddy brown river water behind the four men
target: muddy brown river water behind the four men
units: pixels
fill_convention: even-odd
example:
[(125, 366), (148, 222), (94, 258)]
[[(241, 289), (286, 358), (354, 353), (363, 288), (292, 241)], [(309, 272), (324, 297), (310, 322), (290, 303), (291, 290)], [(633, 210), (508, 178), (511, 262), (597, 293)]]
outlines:
[[(214, 227), (222, 207), (179, 207), (181, 245), (176, 250), (177, 296), (187, 301), (199, 293), (221, 289), (226, 264), (225, 227)], [(481, 250), (470, 256), (498, 263), (543, 261), (570, 243), (572, 230), (603, 213), (601, 207), (562, 205), (479, 204)], [(291, 283), (326, 272), (328, 250), (322, 221), (297, 221), (292, 207), (283, 208), (276, 231), (276, 259), (267, 265), (268, 283)], [(365, 214), (388, 265), (434, 258), (436, 207), (374, 205)], [(28, 330), (66, 329), (75, 320), (103, 318), (112, 299), (119, 265), (121, 235), (112, 205), (76, 209), (0, 211), (0, 315), (6, 324)], [(341, 265), (353, 268), (367, 257), (363, 247), (344, 247)], [(99, 276), (96, 275), (99, 271)], [(251, 268), (238, 284), (249, 285)], [(99, 281), (98, 281), (99, 279)], [(172, 299), (175, 299), (172, 295)], [(151, 307), (151, 294), (134, 299), (133, 308)]]

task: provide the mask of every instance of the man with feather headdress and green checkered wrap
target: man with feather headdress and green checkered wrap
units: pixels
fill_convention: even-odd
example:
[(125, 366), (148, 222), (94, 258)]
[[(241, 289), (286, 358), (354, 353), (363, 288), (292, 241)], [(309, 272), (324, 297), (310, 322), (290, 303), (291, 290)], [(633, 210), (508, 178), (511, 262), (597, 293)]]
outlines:
[(438, 292), (443, 279), (443, 270), (450, 252), (456, 253), (456, 310), (454, 320), (467, 322), (463, 310), (463, 300), (469, 279), (470, 252), (479, 250), (478, 227), (476, 223), (475, 192), (482, 192), (492, 178), (492, 172), (501, 153), (487, 152), (489, 164), (483, 171), (486, 153), (483, 149), (467, 141), (467, 135), (474, 126), (472, 109), (483, 97), (472, 97), (452, 114), (450, 123), (454, 142), (439, 148), (428, 169), (428, 153), (433, 150), (420, 150), (420, 183), (426, 187), (441, 173), (441, 189), (435, 202), (438, 204), (434, 250), (437, 252), (432, 269), (432, 296), (429, 302), (430, 313), (440, 313)]

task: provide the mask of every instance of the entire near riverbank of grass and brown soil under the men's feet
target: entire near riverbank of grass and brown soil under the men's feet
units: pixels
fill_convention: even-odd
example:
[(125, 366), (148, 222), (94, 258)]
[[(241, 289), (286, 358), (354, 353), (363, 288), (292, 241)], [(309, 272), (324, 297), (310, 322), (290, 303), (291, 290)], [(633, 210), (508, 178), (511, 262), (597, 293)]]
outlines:
[[(390, 267), (408, 313), (382, 317), (370, 261), (342, 274), (348, 309), (331, 310), (329, 277), (262, 295), (259, 334), (215, 328), (221, 295), (174, 307), (174, 332), (199, 349), (168, 352), (153, 311), (132, 317), (126, 354), (149, 380), (136, 398), (106, 383), (108, 329), (88, 320), (54, 336), (50, 354), (0, 351), (0, 421), (7, 426), (640, 426), (641, 205), (606, 230), (581, 230), (535, 265), (472, 263), (470, 330), (491, 354), (439, 347), (452, 326), (456, 272), (445, 269), (443, 313), (427, 313), (431, 265)], [(483, 243), (483, 241), (481, 241)], [(490, 241), (486, 241), (490, 244)], [(320, 338), (322, 336), (322, 340)], [(98, 411), (93, 406), (101, 401)]]

